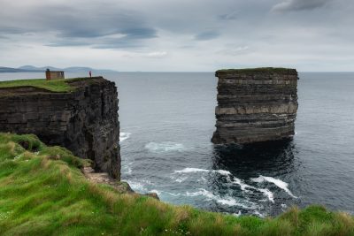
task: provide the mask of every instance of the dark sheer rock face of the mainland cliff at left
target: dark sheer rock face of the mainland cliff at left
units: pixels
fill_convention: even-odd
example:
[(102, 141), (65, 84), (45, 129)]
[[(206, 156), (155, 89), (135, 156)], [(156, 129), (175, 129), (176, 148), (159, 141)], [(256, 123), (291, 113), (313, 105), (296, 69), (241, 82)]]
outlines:
[(96, 171), (120, 178), (118, 93), (96, 77), (70, 80), (73, 92), (32, 87), (0, 89), (0, 132), (35, 133), (48, 145), (93, 160)]

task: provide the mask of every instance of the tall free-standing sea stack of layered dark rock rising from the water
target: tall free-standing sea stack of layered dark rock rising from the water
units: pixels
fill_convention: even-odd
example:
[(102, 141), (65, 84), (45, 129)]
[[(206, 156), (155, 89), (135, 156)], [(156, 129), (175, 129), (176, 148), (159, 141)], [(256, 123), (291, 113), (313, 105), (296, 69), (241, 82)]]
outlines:
[(251, 143), (289, 138), (297, 110), (295, 69), (220, 70), (212, 142)]

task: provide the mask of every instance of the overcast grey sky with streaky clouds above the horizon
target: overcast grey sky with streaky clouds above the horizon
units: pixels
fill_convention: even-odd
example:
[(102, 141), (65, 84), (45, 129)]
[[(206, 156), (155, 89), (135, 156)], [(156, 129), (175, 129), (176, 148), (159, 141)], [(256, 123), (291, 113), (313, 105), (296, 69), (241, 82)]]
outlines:
[(354, 0), (0, 0), (0, 66), (354, 71)]

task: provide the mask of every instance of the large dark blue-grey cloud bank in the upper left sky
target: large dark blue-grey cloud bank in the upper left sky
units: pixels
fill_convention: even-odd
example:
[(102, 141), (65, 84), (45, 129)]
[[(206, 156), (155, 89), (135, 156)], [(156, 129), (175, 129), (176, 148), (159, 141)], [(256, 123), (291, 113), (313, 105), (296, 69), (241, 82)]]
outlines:
[[(129, 48), (143, 46), (144, 40), (158, 37), (158, 31), (150, 27), (138, 12), (119, 7), (92, 8), (93, 5), (87, 8), (75, 5), (38, 6), (28, 9), (20, 19), (13, 19), (19, 21), (16, 27), (5, 27), (6, 20), (1, 20), (0, 16), (0, 32), (3, 34), (51, 32), (56, 34), (56, 39), (46, 45), (52, 47), (92, 45), (95, 48)], [(115, 34), (121, 34), (121, 37), (110, 38)]]

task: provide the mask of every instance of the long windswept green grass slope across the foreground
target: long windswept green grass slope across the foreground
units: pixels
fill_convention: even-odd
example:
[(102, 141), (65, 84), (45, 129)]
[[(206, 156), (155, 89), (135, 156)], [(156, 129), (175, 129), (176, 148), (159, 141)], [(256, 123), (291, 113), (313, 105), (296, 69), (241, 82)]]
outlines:
[(85, 160), (35, 135), (0, 133), (0, 235), (354, 235), (354, 219), (320, 206), (233, 217), (89, 182)]

